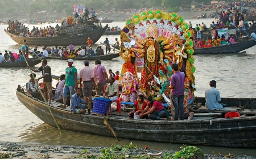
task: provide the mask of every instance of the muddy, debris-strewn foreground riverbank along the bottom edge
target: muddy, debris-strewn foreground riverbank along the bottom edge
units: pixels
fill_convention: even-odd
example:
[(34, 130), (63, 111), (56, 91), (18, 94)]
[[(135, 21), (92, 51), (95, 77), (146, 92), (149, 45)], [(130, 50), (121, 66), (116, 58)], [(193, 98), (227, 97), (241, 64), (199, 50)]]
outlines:
[[(14, 143), (14, 142), (0, 142), (0, 158), (86, 158), (99, 157), (104, 155), (102, 149), (108, 147), (83, 147), (83, 146), (69, 146), (69, 145), (43, 145), (38, 143)], [(126, 156), (129, 158), (138, 157), (152, 157), (163, 158), (164, 154), (172, 153), (170, 149), (147, 149), (147, 148), (132, 148), (125, 149), (125, 152), (114, 151), (115, 154)], [(150, 156), (148, 153), (151, 153)], [(105, 153), (106, 154), (106, 153)], [(153, 156), (154, 154), (154, 156)], [(226, 156), (225, 156), (226, 155)], [(233, 154), (218, 154), (210, 155), (204, 154), (204, 158), (211, 159), (242, 159), (253, 156), (234, 156)]]

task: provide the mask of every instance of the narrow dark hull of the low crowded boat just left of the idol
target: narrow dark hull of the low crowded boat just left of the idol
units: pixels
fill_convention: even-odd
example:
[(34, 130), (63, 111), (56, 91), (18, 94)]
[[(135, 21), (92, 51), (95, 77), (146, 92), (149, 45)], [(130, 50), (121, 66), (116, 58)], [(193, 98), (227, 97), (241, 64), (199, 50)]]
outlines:
[(119, 57), (119, 53), (114, 53), (114, 54), (104, 54), (104, 55), (98, 55), (94, 57), (75, 57), (75, 58), (63, 58), (63, 57), (49, 57), (49, 59), (62, 59), (62, 60), (67, 60), (67, 59), (75, 59), (75, 60), (110, 60), (113, 58)]

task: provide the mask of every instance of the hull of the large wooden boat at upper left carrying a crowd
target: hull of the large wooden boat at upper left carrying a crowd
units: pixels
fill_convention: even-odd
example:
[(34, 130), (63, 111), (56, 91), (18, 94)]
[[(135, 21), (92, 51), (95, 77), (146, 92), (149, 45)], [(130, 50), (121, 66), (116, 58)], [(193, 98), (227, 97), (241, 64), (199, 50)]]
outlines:
[(46, 45), (46, 46), (67, 46), (70, 42), (73, 45), (81, 45), (84, 43), (88, 37), (90, 37), (93, 42), (97, 42), (103, 33), (108, 28), (106, 25), (104, 28), (97, 28), (92, 31), (86, 31), (82, 33), (75, 33), (73, 35), (63, 35), (56, 37), (22, 37), (18, 35), (13, 35), (6, 31), (7, 35), (9, 35), (15, 42), (18, 44), (24, 44), (23, 40), (26, 40), (29, 45)]

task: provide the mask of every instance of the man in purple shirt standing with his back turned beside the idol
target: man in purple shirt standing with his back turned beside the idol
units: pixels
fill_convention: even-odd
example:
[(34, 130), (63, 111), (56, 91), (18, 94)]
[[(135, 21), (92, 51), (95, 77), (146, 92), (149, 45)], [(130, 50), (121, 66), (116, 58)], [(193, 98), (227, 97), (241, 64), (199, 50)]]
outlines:
[[(184, 83), (185, 83), (185, 74), (184, 72), (180, 72), (177, 64), (172, 65), (172, 72), (174, 74), (171, 76), (171, 85), (169, 88), (171, 89), (172, 94), (172, 117), (174, 121), (184, 120)], [(180, 112), (180, 114), (179, 114)]]

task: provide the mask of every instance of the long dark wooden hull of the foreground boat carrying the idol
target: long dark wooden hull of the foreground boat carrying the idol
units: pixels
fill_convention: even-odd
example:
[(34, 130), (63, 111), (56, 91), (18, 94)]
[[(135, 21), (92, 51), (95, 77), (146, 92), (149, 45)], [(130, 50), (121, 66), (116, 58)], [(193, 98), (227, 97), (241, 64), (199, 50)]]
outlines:
[[(38, 118), (52, 127), (57, 127), (45, 102), (30, 98), (22, 91), (16, 91), (16, 96)], [(104, 124), (104, 121), (108, 121), (117, 137), (123, 139), (256, 148), (256, 116), (254, 114), (239, 118), (154, 121), (134, 120), (122, 115), (108, 115), (106, 118), (102, 115), (87, 113), (73, 114), (68, 109), (57, 107), (60, 105), (62, 104), (53, 101), (49, 107), (63, 130), (113, 136)], [(237, 106), (239, 105), (240, 103), (237, 103)]]

